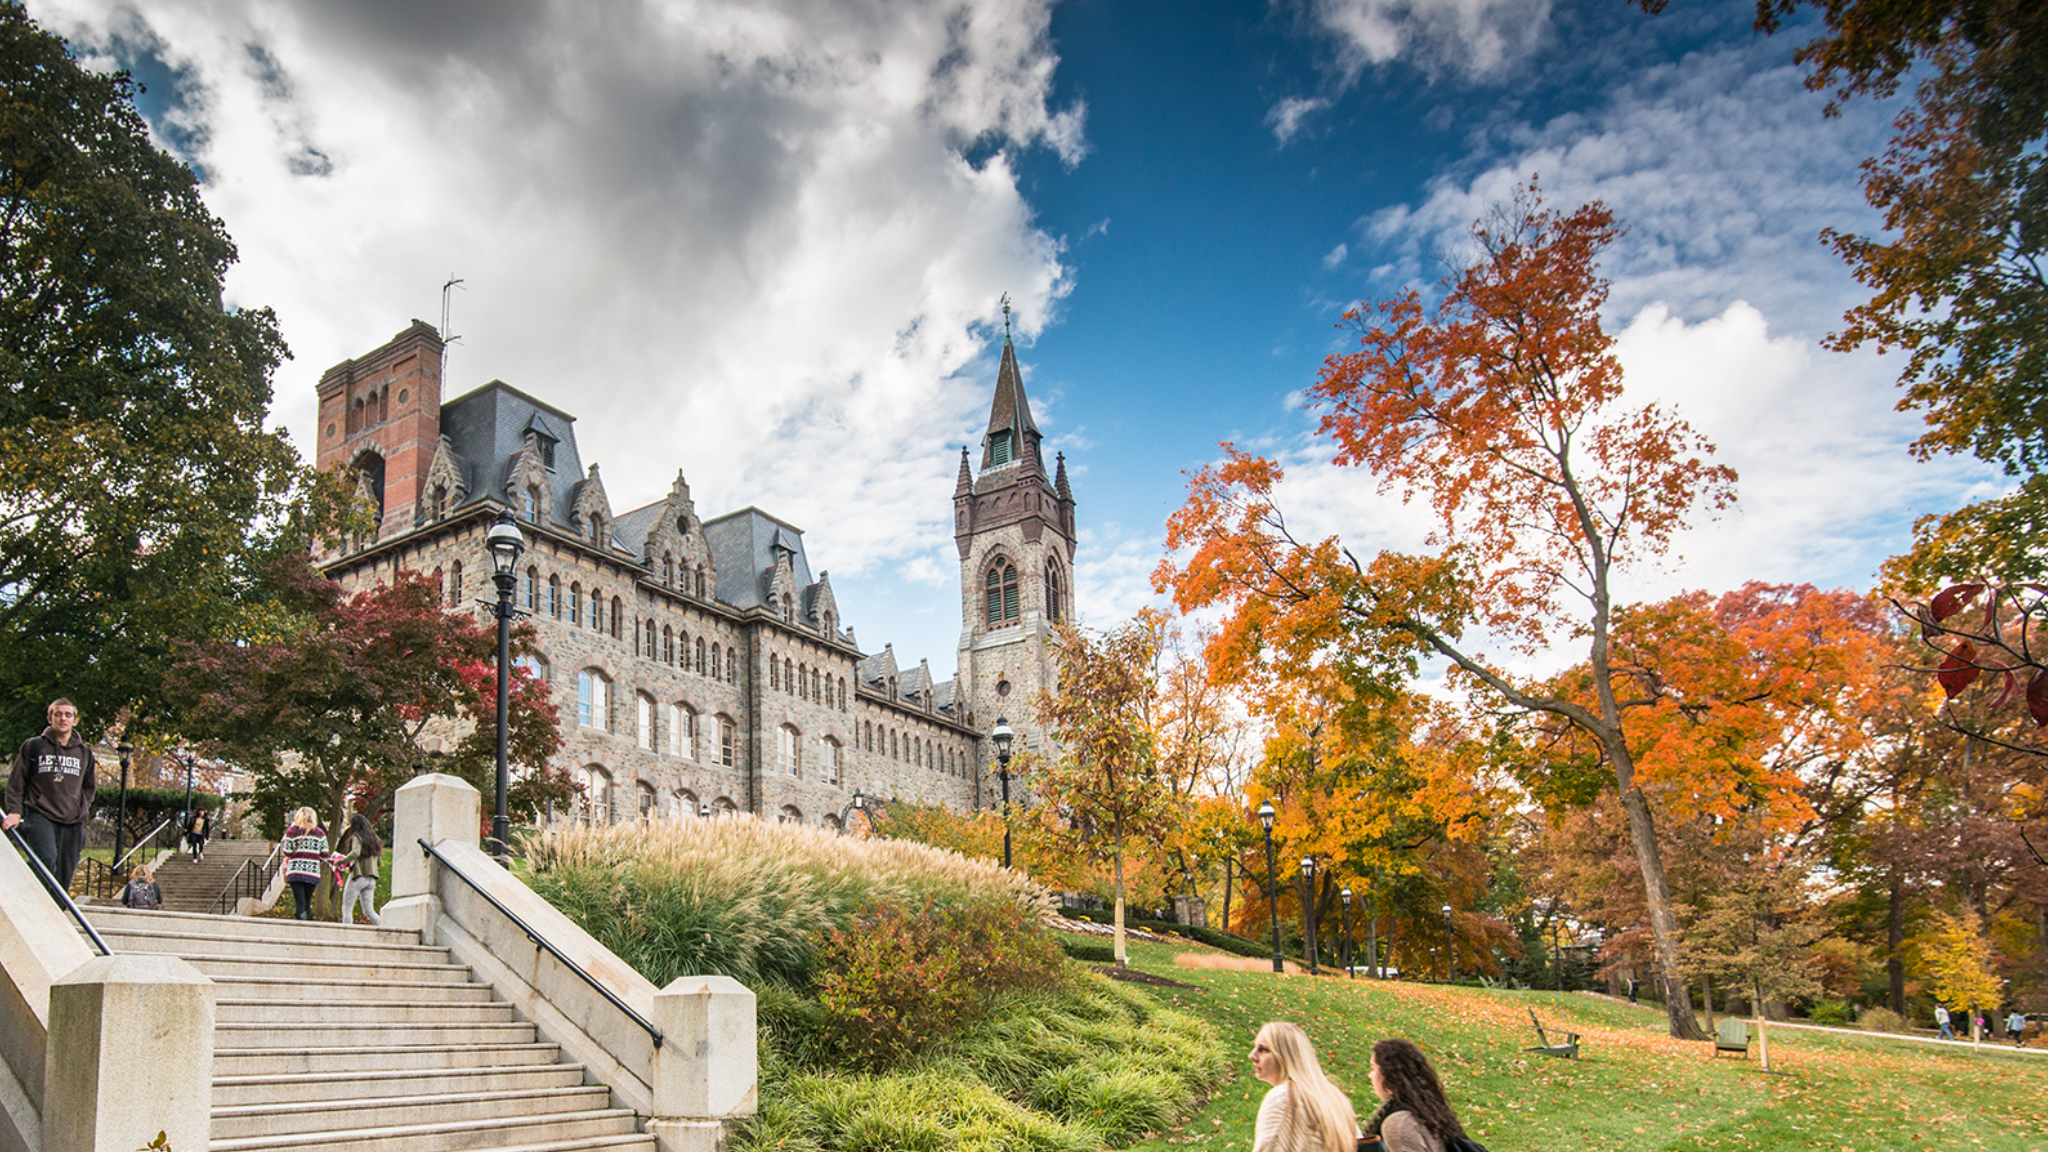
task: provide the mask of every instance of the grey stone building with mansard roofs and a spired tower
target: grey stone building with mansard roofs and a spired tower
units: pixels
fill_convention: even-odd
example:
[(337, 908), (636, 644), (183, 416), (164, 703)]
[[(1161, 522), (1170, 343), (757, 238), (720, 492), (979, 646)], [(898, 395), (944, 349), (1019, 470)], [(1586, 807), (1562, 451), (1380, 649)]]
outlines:
[(526, 535), (514, 599), (586, 816), (840, 824), (856, 789), (969, 810), (995, 795), (999, 713), (1042, 746), (1028, 701), (1071, 613), (1073, 494), (1065, 461), (1047, 478), (1008, 338), (981, 474), (963, 449), (954, 490), (948, 681), (860, 650), (803, 529), (752, 506), (700, 519), (680, 471), (664, 498), (614, 512), (575, 416), (504, 381), (444, 402), (440, 367), (440, 336), (416, 320), (322, 375), (317, 465), (352, 469), (379, 510), (377, 537), (324, 568), (348, 588), (438, 574), (451, 609), (487, 615), (483, 535), (510, 508)]

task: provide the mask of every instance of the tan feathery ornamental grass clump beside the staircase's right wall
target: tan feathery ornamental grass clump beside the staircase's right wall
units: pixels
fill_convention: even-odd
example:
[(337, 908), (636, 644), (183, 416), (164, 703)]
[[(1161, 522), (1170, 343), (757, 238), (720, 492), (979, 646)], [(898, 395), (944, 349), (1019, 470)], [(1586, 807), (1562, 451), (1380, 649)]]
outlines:
[(535, 892), (657, 986), (803, 986), (817, 941), (883, 902), (1053, 910), (1049, 892), (987, 861), (750, 816), (555, 826), (520, 847)]

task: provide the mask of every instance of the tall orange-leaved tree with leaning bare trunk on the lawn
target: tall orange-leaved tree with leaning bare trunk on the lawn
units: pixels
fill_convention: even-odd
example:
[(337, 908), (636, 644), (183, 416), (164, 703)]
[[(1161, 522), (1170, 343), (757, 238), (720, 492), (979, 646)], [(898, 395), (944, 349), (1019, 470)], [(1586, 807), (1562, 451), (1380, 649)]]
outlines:
[[(1225, 445), (1167, 521), (1167, 547), (1186, 560), (1161, 564), (1157, 582), (1182, 611), (1231, 609), (1210, 646), (1223, 674), (1337, 660), (1401, 676), (1440, 656), (1481, 693), (1593, 738), (1628, 814), (1659, 968), (1683, 988), (1614, 685), (1612, 578), (1663, 553), (1694, 508), (1731, 504), (1735, 471), (1663, 408), (1620, 404), (1595, 266), (1618, 234), (1604, 205), (1559, 213), (1532, 182), (1473, 228), (1483, 258), (1444, 281), (1436, 307), (1405, 291), (1348, 314), (1360, 346), (1331, 357), (1309, 394), (1319, 430), (1337, 465), (1436, 510), (1436, 551), (1360, 560), (1335, 537), (1298, 539), (1276, 504), (1282, 469)], [(1524, 650), (1585, 637), (1591, 703), (1518, 683), (1468, 629)], [(1677, 1037), (1704, 1035), (1686, 996), (1669, 998), (1669, 1023)]]

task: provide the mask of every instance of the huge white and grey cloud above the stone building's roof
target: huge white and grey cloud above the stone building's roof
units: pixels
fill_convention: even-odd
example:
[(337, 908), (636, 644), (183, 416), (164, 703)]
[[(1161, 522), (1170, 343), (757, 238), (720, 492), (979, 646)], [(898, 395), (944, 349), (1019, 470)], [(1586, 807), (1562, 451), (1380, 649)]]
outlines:
[(279, 314), (303, 449), (319, 371), (457, 275), (451, 394), (578, 414), (616, 508), (680, 467), (879, 570), (950, 545), (997, 297), (1028, 338), (1069, 289), (1012, 162), (1087, 150), (1047, 0), (31, 6), (172, 78), (154, 127), (240, 246), (231, 301)]

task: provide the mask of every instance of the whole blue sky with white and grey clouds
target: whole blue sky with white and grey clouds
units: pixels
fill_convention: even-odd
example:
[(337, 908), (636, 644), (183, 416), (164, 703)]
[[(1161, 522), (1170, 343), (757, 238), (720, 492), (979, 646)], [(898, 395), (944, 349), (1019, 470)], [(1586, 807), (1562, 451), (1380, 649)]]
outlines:
[[(430, 10), (428, 10), (430, 8)], [(319, 371), (455, 297), (451, 387), (575, 414), (614, 508), (680, 467), (707, 515), (807, 529), (868, 648), (952, 670), (950, 492), (1018, 303), (1075, 476), (1090, 623), (1151, 596), (1182, 471), (1280, 455), (1296, 523), (1415, 547), (1296, 394), (1348, 303), (1430, 285), (1520, 180), (1608, 201), (1630, 392), (1743, 474), (1630, 594), (1866, 586), (1919, 512), (1993, 478), (1917, 465), (1896, 365), (1825, 353), (1894, 109), (1823, 119), (1747, 2), (1114, 0), (287, 6), (33, 0), (135, 68), (242, 248), (238, 303)]]

